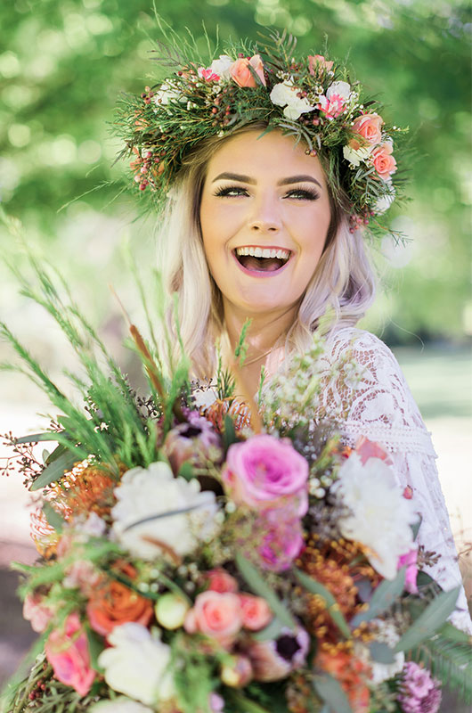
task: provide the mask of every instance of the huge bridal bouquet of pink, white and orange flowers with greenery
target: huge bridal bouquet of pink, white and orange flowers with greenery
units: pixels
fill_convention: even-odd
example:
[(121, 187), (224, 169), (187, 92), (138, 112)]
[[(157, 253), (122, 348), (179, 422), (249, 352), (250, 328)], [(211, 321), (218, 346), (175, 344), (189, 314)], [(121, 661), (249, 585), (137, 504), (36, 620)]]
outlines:
[[(312, 713), (439, 709), (440, 679), (472, 693), (458, 590), (421, 571), (419, 516), (387, 453), (343, 447), (322, 414), (323, 342), (235, 398), (218, 366), (203, 392), (185, 355), (165, 376), (132, 325), (149, 397), (37, 266), (23, 291), (57, 319), (83, 369), (76, 405), (2, 325), (61, 415), (11, 438), (40, 494), (40, 559), (16, 565), (40, 634), (7, 710)], [(66, 287), (63, 286), (63, 291)], [(150, 333), (152, 335), (151, 325)], [(23, 367), (21, 367), (23, 368)], [(356, 379), (346, 355), (340, 379)], [(37, 459), (33, 443), (57, 443)]]

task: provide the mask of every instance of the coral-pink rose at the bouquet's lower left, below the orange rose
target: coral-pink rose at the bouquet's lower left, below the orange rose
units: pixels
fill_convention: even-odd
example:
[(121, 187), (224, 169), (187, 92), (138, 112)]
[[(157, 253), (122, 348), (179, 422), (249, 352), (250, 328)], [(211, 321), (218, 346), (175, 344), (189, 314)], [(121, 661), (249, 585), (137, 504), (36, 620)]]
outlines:
[(54, 676), (85, 696), (94, 683), (95, 671), (90, 667), (87, 637), (77, 614), (69, 614), (64, 628), (56, 629), (45, 643), (47, 660)]

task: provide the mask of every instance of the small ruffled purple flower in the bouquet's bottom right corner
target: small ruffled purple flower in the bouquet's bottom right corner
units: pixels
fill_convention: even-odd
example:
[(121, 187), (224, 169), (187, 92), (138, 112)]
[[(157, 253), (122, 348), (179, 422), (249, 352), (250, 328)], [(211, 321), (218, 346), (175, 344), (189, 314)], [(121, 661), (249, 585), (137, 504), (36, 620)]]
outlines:
[(404, 713), (437, 713), (441, 704), (439, 682), (426, 668), (409, 661), (403, 668), (398, 701)]

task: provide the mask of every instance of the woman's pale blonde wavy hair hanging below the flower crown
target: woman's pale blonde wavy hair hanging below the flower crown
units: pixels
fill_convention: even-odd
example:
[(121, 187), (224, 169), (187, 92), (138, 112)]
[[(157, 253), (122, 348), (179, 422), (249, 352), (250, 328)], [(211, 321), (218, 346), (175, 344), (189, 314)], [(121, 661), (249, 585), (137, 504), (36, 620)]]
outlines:
[[(248, 124), (231, 136), (209, 137), (187, 156), (171, 189), (167, 208), (159, 217), (159, 271), (167, 295), (176, 293), (177, 321), (183, 348), (191, 358), (193, 374), (211, 377), (216, 369), (216, 339), (225, 338), (223, 300), (210, 275), (199, 224), (199, 206), (208, 162), (216, 150), (235, 135), (264, 130)], [(348, 214), (330, 193), (331, 222), (318, 265), (300, 300), (297, 318), (285, 335), (285, 354), (309, 348), (313, 331), (333, 332), (354, 326), (370, 307), (375, 276), (362, 231), (349, 230)], [(167, 328), (175, 336), (173, 359), (180, 355), (175, 316), (169, 307)], [(321, 318), (329, 314), (329, 320)], [(164, 353), (164, 350), (163, 352)]]

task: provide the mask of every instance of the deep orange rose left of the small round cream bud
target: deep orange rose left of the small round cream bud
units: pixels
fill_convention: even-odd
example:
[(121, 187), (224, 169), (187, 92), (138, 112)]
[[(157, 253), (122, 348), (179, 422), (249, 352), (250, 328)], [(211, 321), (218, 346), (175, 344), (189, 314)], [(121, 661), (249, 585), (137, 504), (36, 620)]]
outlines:
[[(122, 564), (119, 569), (130, 579), (136, 576), (130, 564)], [(86, 609), (90, 626), (102, 636), (109, 635), (115, 627), (127, 621), (135, 621), (146, 627), (153, 613), (149, 599), (114, 579), (108, 580), (106, 585), (96, 590)]]

